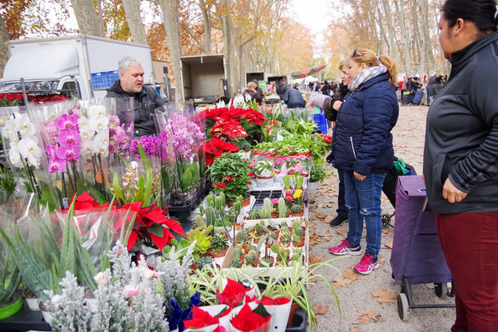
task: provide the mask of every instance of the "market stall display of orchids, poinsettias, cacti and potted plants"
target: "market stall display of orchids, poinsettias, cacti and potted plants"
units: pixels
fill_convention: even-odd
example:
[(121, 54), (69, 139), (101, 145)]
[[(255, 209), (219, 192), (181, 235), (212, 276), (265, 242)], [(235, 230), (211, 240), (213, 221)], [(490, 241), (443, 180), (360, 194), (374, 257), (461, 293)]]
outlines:
[(0, 108), (0, 329), (316, 324), (307, 286), (334, 289), (309, 262), (308, 197), (330, 137), (304, 109), (155, 112), (137, 138), (113, 99)]

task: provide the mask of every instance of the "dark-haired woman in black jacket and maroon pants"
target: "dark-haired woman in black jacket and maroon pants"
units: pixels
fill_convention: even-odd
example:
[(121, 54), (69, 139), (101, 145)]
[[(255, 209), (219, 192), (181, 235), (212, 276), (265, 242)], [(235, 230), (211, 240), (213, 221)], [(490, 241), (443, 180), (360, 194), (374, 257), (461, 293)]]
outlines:
[(438, 28), (451, 62), (427, 114), (423, 174), (456, 289), (451, 331), (498, 329), (498, 5), (446, 0)]

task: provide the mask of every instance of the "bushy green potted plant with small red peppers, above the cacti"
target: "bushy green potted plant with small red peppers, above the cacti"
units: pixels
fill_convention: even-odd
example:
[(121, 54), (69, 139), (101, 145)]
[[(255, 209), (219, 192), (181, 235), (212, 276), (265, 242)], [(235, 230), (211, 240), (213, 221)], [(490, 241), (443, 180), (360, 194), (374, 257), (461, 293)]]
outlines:
[(216, 158), (208, 168), (215, 193), (224, 193), (229, 202), (235, 202), (237, 197), (242, 195), (243, 206), (249, 206), (248, 165), (248, 161), (236, 153), (224, 153)]

